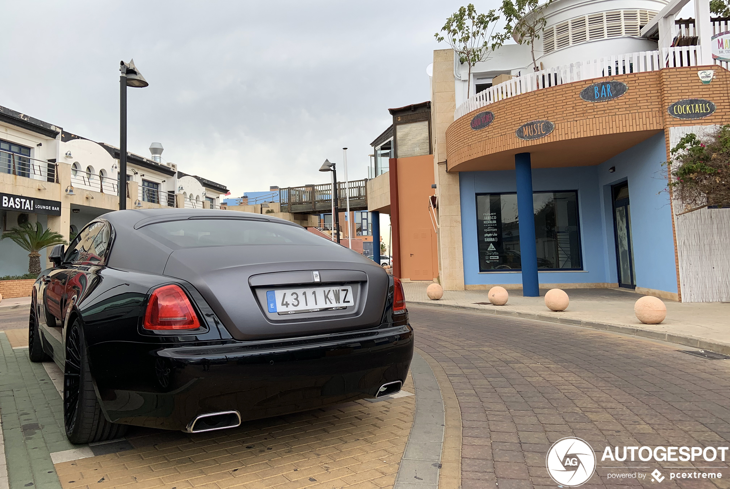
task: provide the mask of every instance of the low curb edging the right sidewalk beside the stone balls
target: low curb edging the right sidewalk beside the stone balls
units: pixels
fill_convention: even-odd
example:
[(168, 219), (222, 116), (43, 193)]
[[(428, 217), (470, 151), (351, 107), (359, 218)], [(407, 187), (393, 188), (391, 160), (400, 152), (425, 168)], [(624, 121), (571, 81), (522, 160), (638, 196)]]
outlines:
[[(408, 301), (407, 301), (408, 302)], [(497, 316), (520, 317), (522, 319), (533, 319), (545, 321), (547, 323), (566, 324), (569, 326), (580, 326), (581, 328), (599, 329), (601, 331), (610, 331), (611, 333), (629, 334), (632, 336), (641, 336), (642, 338), (657, 339), (662, 342), (682, 344), (687, 347), (694, 347), (698, 350), (712, 350), (713, 352), (730, 355), (730, 344), (722, 342), (713, 342), (696, 336), (684, 336), (672, 333), (660, 333), (642, 328), (632, 328), (631, 326), (619, 326), (611, 323), (596, 323), (593, 321), (583, 321), (580, 319), (561, 319), (542, 315), (537, 312), (517, 312), (517, 311), (501, 311), (499, 309), (478, 309), (477, 307), (456, 306), (453, 304), (434, 304), (433, 302), (410, 301), (410, 304), (418, 304), (426, 307), (442, 307), (444, 309), (458, 309), (463, 311), (482, 312), (483, 314), (491, 314)]]

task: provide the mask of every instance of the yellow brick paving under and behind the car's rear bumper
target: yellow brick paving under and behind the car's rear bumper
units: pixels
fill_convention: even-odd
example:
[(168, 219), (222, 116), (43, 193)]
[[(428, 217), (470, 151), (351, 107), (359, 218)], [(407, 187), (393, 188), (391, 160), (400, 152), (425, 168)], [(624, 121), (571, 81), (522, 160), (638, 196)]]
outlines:
[[(414, 392), (409, 376), (404, 390)], [(356, 401), (210, 434), (149, 430), (134, 450), (55, 464), (64, 489), (392, 488), (415, 396)]]

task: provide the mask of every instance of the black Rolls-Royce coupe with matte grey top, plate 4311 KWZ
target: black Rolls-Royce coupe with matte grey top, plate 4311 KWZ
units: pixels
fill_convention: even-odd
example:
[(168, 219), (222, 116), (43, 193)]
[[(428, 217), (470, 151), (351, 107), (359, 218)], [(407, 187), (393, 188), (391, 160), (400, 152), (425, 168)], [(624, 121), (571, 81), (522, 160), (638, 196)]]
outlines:
[(384, 396), (410, 366), (399, 280), (285, 220), (110, 212), (49, 257), (29, 354), (64, 371), (74, 443), (126, 425), (196, 433)]

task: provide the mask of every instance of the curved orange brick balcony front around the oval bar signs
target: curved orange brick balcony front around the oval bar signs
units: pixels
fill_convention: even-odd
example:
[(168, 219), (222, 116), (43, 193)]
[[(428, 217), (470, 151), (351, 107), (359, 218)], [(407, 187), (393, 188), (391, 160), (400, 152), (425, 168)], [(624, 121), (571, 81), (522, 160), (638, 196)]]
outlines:
[[(668, 126), (694, 126), (730, 121), (730, 72), (720, 66), (715, 79), (703, 85), (699, 69), (668, 68), (566, 83), (490, 104), (454, 121), (446, 131), (449, 171), (513, 169), (516, 153), (532, 153), (534, 167), (602, 163)], [(593, 82), (616, 80), (629, 86), (618, 99), (588, 102), (580, 91)], [(681, 99), (707, 99), (715, 113), (695, 120), (672, 118), (670, 104)], [(472, 118), (494, 113), (491, 125), (472, 130)], [(531, 120), (550, 120), (555, 130), (541, 139), (524, 141), (515, 131)]]

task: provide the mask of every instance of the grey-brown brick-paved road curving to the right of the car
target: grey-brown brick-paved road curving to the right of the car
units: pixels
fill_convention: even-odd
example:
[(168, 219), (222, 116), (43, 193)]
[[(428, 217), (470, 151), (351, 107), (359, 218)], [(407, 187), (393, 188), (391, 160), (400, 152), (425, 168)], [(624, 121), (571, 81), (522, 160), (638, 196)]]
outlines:
[[(730, 361), (575, 326), (412, 304), (409, 309), (417, 346), (439, 362), (458, 398), (462, 489), (554, 488), (545, 456), (564, 436), (585, 439), (596, 451), (599, 468), (581, 486), (588, 489), (657, 487), (651, 477), (607, 478), (617, 471), (656, 468), (668, 475), (666, 463), (656, 462), (640, 463), (648, 469), (606, 469), (609, 462), (601, 457), (607, 445), (730, 442)], [(723, 477), (667, 477), (661, 488), (730, 488), (730, 469)]]

